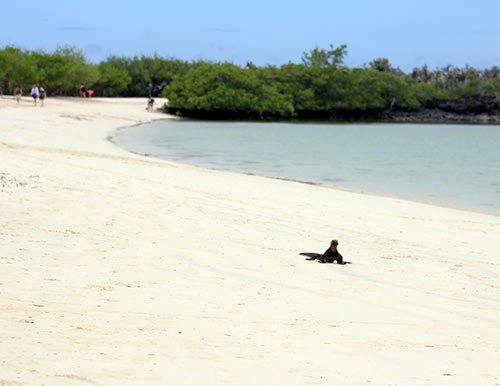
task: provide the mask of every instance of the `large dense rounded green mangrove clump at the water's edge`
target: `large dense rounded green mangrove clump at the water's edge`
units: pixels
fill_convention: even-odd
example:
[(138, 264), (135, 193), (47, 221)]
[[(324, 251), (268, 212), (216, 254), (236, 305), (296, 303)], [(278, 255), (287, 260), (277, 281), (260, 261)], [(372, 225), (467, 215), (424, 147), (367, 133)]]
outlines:
[(331, 117), (420, 107), (394, 74), (297, 64), (242, 69), (198, 63), (163, 95), (170, 111), (205, 117)]

